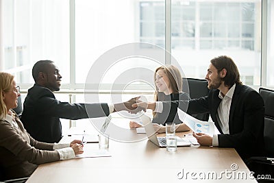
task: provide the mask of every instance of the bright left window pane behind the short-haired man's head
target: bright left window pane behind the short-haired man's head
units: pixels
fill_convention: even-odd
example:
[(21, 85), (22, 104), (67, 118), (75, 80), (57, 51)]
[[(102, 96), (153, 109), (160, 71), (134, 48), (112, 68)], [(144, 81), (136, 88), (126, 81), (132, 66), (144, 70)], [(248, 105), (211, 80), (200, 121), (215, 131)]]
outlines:
[[(54, 60), (60, 70), (69, 68), (69, 1), (3, 1), (3, 70), (20, 84), (34, 83), (32, 66)], [(69, 73), (62, 72), (69, 83)]]

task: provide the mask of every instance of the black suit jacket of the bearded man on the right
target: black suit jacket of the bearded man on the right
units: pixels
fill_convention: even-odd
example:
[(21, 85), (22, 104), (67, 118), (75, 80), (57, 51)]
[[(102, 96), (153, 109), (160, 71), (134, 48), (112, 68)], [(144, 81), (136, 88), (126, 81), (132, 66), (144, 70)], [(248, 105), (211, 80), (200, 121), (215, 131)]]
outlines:
[[(188, 101), (163, 103), (164, 110), (178, 106), (188, 114), (210, 112), (216, 127), (219, 147), (233, 147), (243, 159), (260, 156), (264, 153), (264, 101), (256, 90), (249, 86), (236, 84), (229, 111), (229, 134), (223, 134), (216, 119), (221, 99), (219, 90), (210, 90), (207, 97)], [(163, 112), (162, 115), (168, 115)]]

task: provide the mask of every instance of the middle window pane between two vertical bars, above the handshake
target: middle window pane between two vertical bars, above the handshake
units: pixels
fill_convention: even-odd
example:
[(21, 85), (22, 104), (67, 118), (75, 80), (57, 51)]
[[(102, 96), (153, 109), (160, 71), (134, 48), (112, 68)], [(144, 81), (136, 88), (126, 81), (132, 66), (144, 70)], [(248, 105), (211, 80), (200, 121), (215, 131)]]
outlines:
[[(151, 4), (155, 7), (154, 11), (151, 10)], [(164, 47), (163, 5), (164, 1), (75, 1), (75, 83), (84, 84), (96, 60), (114, 47), (140, 41), (159, 43)], [(144, 21), (142, 17), (145, 17)], [(103, 84), (112, 84), (121, 73), (137, 66), (155, 69), (153, 62), (143, 58), (126, 58), (109, 66), (106, 77), (101, 80)], [(137, 76), (141, 73), (134, 74)]]

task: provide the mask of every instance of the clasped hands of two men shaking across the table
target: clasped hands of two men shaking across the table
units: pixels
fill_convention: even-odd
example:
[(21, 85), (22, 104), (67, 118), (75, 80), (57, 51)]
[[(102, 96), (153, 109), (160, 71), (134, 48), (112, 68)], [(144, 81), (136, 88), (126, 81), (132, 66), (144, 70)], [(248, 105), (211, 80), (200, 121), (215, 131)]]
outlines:
[(154, 110), (155, 109), (155, 102), (154, 103), (148, 103), (145, 101), (141, 101), (140, 97), (134, 97), (132, 99), (129, 99), (128, 101), (125, 101), (123, 103), (115, 103), (114, 104), (114, 112), (118, 112), (121, 110), (126, 110), (127, 112), (131, 114), (136, 114), (140, 111), (146, 111), (147, 109)]

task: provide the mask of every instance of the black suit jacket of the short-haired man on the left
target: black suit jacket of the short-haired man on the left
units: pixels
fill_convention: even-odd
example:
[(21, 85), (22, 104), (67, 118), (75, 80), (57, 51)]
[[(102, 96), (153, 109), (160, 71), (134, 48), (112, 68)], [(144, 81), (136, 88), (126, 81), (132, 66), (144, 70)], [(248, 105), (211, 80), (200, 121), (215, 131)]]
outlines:
[(51, 90), (34, 84), (25, 98), (21, 121), (27, 132), (37, 141), (58, 143), (62, 138), (60, 118), (75, 120), (105, 117), (108, 114), (108, 103), (58, 101)]

